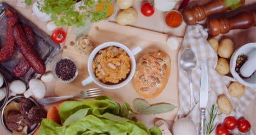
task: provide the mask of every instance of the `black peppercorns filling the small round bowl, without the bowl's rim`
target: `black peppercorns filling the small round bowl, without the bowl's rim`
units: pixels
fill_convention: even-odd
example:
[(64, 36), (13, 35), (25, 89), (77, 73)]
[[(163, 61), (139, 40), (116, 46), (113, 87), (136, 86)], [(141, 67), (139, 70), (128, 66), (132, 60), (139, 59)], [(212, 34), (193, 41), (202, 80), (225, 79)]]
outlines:
[(77, 71), (77, 67), (75, 63), (67, 58), (60, 60), (57, 62), (55, 67), (55, 73), (58, 78), (63, 81), (68, 81), (75, 77), (75, 72)]

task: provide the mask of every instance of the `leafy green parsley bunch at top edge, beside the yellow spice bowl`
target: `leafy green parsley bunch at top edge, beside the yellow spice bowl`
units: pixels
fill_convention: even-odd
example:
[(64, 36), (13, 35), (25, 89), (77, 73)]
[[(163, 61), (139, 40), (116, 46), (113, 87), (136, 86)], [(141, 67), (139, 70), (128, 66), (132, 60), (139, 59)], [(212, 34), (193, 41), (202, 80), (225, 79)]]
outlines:
[[(106, 0), (108, 3), (112, 0)], [(28, 5), (31, 0), (25, 1)], [(38, 9), (46, 14), (51, 14), (51, 19), (57, 26), (85, 26), (87, 19), (91, 22), (98, 22), (107, 16), (108, 4), (104, 5), (102, 11), (95, 11), (95, 0), (81, 0), (79, 9), (75, 9), (76, 0), (38, 0)], [(97, 3), (102, 3), (98, 0)]]

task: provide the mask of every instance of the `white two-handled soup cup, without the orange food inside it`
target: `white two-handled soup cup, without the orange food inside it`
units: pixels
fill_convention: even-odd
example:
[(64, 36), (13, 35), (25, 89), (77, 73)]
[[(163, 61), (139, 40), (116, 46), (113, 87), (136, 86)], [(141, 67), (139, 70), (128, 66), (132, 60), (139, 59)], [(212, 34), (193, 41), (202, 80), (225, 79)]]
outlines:
[[(108, 85), (108, 84), (103, 84), (101, 83), (100, 80), (98, 80), (94, 74), (94, 71), (92, 70), (92, 61), (94, 60), (95, 56), (97, 55), (98, 51), (107, 48), (108, 46), (116, 46), (118, 48), (124, 49), (127, 54), (130, 56), (131, 58), (131, 71), (130, 74), (128, 75), (128, 77), (126, 77), (126, 79), (119, 84), (113, 84), (113, 85)], [(125, 45), (121, 44), (121, 43), (117, 43), (117, 42), (107, 42), (107, 43), (103, 43), (99, 46), (97, 46), (97, 48), (95, 48), (89, 57), (88, 60), (88, 72), (90, 77), (86, 78), (85, 80), (82, 81), (82, 84), (88, 85), (90, 83), (92, 83), (92, 81), (94, 81), (98, 86), (105, 88), (105, 89), (118, 89), (119, 87), (123, 87), (124, 85), (126, 85), (127, 83), (129, 83), (129, 81), (132, 79), (134, 73), (135, 73), (135, 69), (136, 69), (136, 61), (135, 61), (135, 57), (134, 55), (136, 55), (138, 52), (140, 52), (142, 50), (142, 48), (140, 46), (138, 46), (137, 48), (133, 49), (132, 51), (127, 48)]]

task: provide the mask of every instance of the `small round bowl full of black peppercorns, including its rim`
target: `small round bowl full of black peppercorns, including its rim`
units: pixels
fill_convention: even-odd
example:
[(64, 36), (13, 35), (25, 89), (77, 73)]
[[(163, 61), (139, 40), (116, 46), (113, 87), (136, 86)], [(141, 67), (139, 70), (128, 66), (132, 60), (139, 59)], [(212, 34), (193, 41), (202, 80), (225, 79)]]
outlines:
[(54, 62), (54, 77), (61, 83), (71, 83), (78, 75), (78, 66), (70, 57), (60, 57)]

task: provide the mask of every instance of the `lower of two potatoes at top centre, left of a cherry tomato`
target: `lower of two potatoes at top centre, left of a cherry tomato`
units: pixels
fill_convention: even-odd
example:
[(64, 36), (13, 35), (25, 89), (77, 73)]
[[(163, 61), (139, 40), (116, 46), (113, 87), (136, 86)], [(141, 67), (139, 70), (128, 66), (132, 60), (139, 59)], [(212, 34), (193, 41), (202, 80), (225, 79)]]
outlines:
[(120, 25), (130, 25), (138, 19), (137, 11), (133, 8), (125, 9), (117, 15), (117, 23)]

